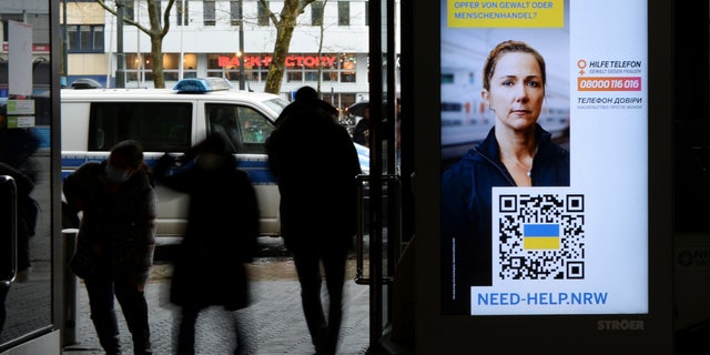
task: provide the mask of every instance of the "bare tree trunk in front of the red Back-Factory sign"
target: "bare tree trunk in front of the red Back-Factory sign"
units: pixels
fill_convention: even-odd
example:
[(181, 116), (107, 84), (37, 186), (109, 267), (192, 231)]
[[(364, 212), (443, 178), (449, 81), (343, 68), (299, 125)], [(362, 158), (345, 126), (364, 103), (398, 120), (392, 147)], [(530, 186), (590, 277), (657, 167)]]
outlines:
[(258, 0), (264, 7), (268, 18), (276, 27), (276, 42), (274, 43), (274, 53), (268, 65), (268, 74), (266, 74), (265, 92), (280, 93), (281, 82), (284, 77), (284, 68), (286, 64), (286, 55), (291, 47), (291, 38), (296, 27), (296, 19), (304, 9), (316, 0), (284, 0), (284, 7), (281, 13), (276, 16), (268, 10), (268, 1)]

